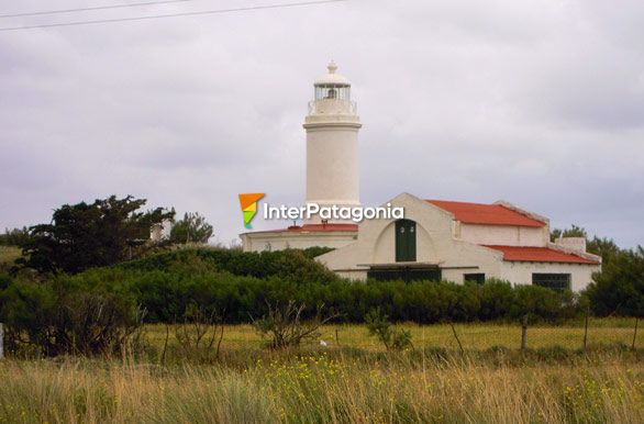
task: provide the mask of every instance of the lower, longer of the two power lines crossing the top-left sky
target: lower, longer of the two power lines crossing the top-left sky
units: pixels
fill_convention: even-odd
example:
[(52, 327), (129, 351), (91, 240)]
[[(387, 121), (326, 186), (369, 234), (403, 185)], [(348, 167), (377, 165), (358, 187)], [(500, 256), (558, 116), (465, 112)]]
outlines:
[(9, 26), (0, 27), (0, 32), (4, 31), (20, 31), (20, 30), (35, 30), (42, 27), (56, 27), (56, 26), (76, 26), (76, 25), (92, 25), (100, 23), (113, 23), (113, 22), (133, 22), (133, 21), (147, 21), (153, 19), (163, 18), (177, 18), (177, 16), (197, 16), (203, 14), (222, 14), (222, 13), (234, 13), (234, 12), (246, 12), (253, 10), (267, 10), (267, 9), (286, 9), (286, 8), (298, 8), (324, 3), (337, 3), (341, 1), (348, 0), (315, 0), (315, 1), (301, 1), (297, 3), (276, 3), (266, 5), (252, 5), (247, 8), (233, 8), (233, 9), (216, 9), (216, 10), (203, 10), (198, 12), (182, 12), (182, 13), (168, 13), (168, 14), (155, 14), (148, 16), (133, 16), (133, 18), (114, 18), (114, 19), (100, 19), (95, 21), (77, 21), (77, 22), (62, 22), (62, 23), (49, 23), (42, 25), (27, 25), (27, 26)]

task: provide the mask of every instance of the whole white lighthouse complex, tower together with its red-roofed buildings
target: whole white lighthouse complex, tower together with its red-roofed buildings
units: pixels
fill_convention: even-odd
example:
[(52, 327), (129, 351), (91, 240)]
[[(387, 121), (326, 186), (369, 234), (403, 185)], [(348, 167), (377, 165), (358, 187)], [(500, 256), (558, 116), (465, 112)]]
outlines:
[[(315, 82), (306, 119), (307, 202), (359, 205), (357, 132), (351, 85), (335, 72)], [(403, 220), (321, 222), (242, 234), (246, 252), (327, 246), (318, 259), (351, 279), (445, 279), (482, 282), (500, 278), (556, 289), (581, 290), (601, 258), (584, 238), (551, 243), (546, 217), (508, 202), (479, 204), (423, 200), (402, 193), (390, 200)]]

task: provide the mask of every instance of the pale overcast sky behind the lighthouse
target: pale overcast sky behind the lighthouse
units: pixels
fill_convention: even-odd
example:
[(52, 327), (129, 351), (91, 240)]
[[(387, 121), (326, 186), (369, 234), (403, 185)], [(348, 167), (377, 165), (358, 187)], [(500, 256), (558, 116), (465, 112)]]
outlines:
[[(0, 26), (282, 1), (196, 0)], [(123, 2), (4, 1), (0, 14)], [(199, 211), (213, 242), (230, 244), (244, 230), (237, 193), (303, 202), (301, 124), (313, 80), (334, 58), (364, 124), (363, 203), (403, 191), (504, 199), (552, 226), (644, 244), (643, 21), (641, 0), (352, 0), (0, 32), (0, 226), (133, 194)]]

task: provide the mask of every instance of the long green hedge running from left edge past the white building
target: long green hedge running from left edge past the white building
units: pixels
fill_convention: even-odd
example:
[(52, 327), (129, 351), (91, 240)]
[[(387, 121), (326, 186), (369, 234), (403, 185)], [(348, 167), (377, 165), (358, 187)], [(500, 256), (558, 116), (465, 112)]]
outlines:
[[(95, 268), (45, 282), (12, 280), (0, 275), (0, 321), (15, 336), (43, 347), (45, 354), (115, 348), (135, 324), (137, 310), (146, 322), (177, 322), (190, 305), (219, 311), (225, 323), (247, 323), (265, 316), (268, 304), (295, 301), (315, 316), (324, 304), (338, 321), (364, 322), (379, 308), (392, 322), (420, 324), (532, 320), (558, 322), (578, 315), (582, 306), (573, 293), (490, 280), (485, 284), (446, 281), (366, 281), (341, 279), (299, 250), (248, 254), (240, 250), (191, 248)], [(107, 325), (92, 310), (108, 309), (111, 342), (91, 341), (77, 325)], [(585, 311), (585, 309), (584, 309)], [(109, 333), (109, 332), (108, 332)], [(18, 338), (16, 338), (18, 339)], [(81, 341), (87, 346), (75, 346)], [(79, 342), (75, 342), (79, 343)]]

